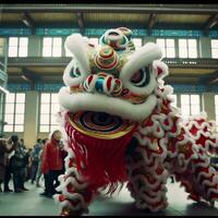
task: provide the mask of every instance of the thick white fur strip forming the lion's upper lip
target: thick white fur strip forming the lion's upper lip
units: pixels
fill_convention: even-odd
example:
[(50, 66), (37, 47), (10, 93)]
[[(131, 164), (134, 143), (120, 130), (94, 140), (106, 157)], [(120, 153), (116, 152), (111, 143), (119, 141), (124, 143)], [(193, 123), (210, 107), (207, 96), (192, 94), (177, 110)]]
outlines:
[(100, 94), (70, 94), (68, 87), (62, 87), (59, 92), (59, 101), (61, 106), (72, 112), (80, 110), (100, 111), (132, 121), (142, 121), (152, 113), (157, 98), (155, 95), (149, 95), (145, 102), (133, 105), (129, 101)]

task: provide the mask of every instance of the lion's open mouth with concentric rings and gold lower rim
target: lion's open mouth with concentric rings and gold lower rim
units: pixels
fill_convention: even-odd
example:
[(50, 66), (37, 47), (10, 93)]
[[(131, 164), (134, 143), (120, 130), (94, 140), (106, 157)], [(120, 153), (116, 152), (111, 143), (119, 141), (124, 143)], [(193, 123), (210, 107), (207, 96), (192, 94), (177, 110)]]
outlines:
[(104, 140), (113, 140), (130, 134), (137, 124), (118, 116), (95, 111), (69, 113), (69, 122), (75, 131)]

